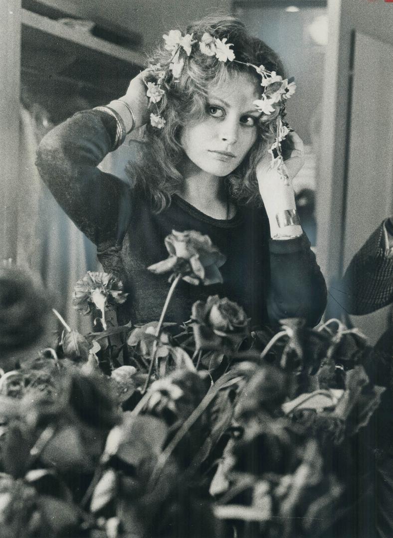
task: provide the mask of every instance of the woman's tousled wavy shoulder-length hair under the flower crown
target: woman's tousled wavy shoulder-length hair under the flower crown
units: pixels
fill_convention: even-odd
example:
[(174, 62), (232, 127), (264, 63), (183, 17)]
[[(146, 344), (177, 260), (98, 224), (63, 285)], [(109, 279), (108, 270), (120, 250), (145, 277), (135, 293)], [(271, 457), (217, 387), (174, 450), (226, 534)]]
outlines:
[[(201, 40), (207, 32), (210, 35), (233, 44), (236, 60), (264, 65), (270, 71), (285, 78), (284, 67), (278, 55), (263, 41), (251, 37), (240, 20), (234, 17), (206, 17), (190, 24), (185, 33), (192, 33), (193, 39)], [(167, 65), (171, 52), (163, 46), (151, 56), (149, 63)], [(206, 114), (208, 88), (220, 83), (230, 84), (234, 76), (247, 72), (255, 78), (255, 85), (261, 91), (261, 79), (255, 70), (235, 62), (220, 62), (215, 56), (207, 56), (194, 46), (190, 58), (187, 58), (183, 72), (177, 82), (168, 70), (162, 88), (165, 95), (158, 103), (160, 115), (165, 118), (163, 129), (146, 125), (143, 129), (142, 143), (139, 146), (139, 158), (127, 165), (127, 175), (131, 186), (147, 195), (152, 209), (159, 213), (171, 202), (171, 195), (179, 190), (183, 176), (179, 165), (184, 158), (180, 144), (180, 132), (188, 122), (202, 119)], [(154, 75), (146, 81), (155, 81)], [(153, 112), (156, 109), (152, 109)], [(256, 165), (262, 152), (276, 138), (277, 116), (279, 108), (270, 116), (262, 115), (257, 125), (256, 142), (251, 147), (241, 164), (227, 178), (231, 199), (236, 204), (261, 203), (261, 196), (256, 179)]]

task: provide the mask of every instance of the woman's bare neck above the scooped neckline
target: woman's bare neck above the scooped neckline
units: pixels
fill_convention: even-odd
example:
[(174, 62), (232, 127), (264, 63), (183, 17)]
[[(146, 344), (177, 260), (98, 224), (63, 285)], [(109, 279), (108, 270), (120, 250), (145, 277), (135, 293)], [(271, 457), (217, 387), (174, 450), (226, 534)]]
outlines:
[(213, 218), (224, 220), (236, 213), (235, 207), (229, 203), (224, 178), (202, 170), (186, 175), (177, 194)]

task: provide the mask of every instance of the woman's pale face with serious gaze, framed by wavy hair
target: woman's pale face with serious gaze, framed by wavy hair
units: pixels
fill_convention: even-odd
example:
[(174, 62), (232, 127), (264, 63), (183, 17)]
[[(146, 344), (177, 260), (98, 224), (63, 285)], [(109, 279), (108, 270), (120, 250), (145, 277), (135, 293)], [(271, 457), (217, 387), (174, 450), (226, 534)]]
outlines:
[(204, 171), (222, 177), (241, 164), (257, 138), (259, 99), (255, 80), (247, 73), (209, 88), (205, 114), (184, 126), (180, 143), (185, 172)]

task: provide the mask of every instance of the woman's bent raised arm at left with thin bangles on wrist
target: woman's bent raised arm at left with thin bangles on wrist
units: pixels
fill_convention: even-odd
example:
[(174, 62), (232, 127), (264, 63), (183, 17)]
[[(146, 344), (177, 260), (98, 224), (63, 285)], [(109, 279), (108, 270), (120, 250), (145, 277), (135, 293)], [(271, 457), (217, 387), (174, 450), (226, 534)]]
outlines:
[[(121, 100), (78, 112), (52, 129), (38, 148), (36, 164), (41, 178), (67, 215), (95, 244), (110, 239), (121, 243), (127, 229), (130, 188), (97, 165), (122, 143), (125, 132), (146, 122), (148, 100), (141, 77), (131, 81)], [(123, 133), (119, 133), (120, 124)]]

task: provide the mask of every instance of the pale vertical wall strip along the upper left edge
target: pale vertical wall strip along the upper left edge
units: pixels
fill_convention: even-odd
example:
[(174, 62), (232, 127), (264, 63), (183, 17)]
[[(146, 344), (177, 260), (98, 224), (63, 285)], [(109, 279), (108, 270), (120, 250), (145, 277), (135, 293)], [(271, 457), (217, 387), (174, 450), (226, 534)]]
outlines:
[(16, 253), (20, 17), (20, 0), (0, 2), (0, 260)]

